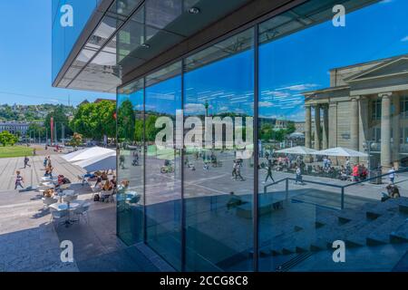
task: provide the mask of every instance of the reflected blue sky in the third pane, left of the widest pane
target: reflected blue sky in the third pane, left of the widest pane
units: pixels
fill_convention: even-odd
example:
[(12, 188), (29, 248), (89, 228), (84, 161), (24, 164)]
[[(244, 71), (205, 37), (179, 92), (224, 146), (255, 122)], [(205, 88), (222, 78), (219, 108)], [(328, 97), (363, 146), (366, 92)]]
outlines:
[(253, 50), (238, 53), (185, 75), (185, 114), (225, 112), (253, 115)]

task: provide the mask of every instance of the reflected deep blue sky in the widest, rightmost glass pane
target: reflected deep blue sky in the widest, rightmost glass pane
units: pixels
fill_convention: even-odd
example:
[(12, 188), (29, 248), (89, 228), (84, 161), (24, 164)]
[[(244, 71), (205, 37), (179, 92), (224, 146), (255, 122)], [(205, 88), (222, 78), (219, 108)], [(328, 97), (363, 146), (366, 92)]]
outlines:
[(302, 92), (330, 86), (329, 70), (408, 53), (408, 1), (383, 1), (260, 46), (259, 116), (305, 120)]

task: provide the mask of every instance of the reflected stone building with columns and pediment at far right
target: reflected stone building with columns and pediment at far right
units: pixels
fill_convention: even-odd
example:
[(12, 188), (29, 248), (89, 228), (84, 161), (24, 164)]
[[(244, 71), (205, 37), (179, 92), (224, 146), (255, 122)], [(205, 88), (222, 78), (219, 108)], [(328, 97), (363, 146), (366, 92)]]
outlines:
[[(408, 55), (331, 70), (329, 88), (304, 93), (306, 147), (364, 151), (373, 141), (383, 168), (397, 165), (408, 153), (407, 70)], [(312, 111), (315, 121), (322, 120), (317, 127)]]

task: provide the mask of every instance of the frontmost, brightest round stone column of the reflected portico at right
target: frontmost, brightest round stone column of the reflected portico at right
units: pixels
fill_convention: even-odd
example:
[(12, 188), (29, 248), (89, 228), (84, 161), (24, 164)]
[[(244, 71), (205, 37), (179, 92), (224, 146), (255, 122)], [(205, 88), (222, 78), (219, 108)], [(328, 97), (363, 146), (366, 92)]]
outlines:
[(381, 166), (383, 172), (391, 168), (391, 96), (392, 92), (379, 94), (381, 101)]

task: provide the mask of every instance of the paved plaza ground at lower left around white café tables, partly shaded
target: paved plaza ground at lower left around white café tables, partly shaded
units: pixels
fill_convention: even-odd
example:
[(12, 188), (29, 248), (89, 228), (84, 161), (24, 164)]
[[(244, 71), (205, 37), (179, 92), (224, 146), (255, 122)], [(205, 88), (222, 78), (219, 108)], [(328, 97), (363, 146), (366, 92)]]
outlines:
[[(36, 186), (44, 175), (43, 158), (31, 157), (32, 167), (27, 169), (21, 169), (22, 159), (0, 160), (0, 272), (172, 270), (146, 246), (127, 247), (121, 242), (116, 236), (115, 203), (93, 202), (91, 189), (76, 183), (83, 170), (58, 155), (51, 157), (54, 173), (71, 179), (78, 199), (92, 205), (88, 223), (55, 227), (38, 192), (14, 189), (15, 169), (22, 171), (26, 187)], [(63, 240), (73, 242), (73, 263), (61, 262)]]

